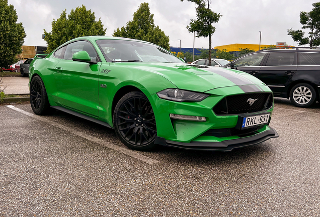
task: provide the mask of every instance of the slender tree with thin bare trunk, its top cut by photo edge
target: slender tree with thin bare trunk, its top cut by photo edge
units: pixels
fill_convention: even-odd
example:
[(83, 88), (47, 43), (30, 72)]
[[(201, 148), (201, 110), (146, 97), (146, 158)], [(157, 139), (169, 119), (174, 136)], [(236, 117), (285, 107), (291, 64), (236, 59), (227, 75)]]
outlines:
[[(180, 0), (183, 2), (184, 0)], [(212, 34), (215, 32), (215, 27), (212, 26), (213, 23), (217, 23), (222, 15), (213, 12), (210, 9), (209, 0), (187, 0), (188, 2), (195, 3), (197, 5), (196, 13), (197, 19), (191, 19), (187, 29), (190, 33), (197, 33), (196, 37), (209, 37), (209, 65), (211, 64), (211, 38)]]

